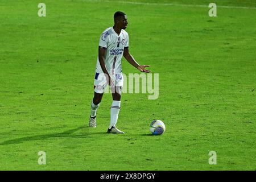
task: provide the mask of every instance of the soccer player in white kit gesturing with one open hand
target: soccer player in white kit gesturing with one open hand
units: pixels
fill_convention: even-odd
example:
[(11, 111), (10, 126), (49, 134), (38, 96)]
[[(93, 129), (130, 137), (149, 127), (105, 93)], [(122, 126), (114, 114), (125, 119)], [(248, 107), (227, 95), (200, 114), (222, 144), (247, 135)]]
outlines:
[(124, 134), (117, 129), (118, 114), (121, 106), (121, 92), (123, 86), (122, 76), (122, 56), (139, 69), (141, 72), (150, 72), (146, 67), (149, 65), (139, 65), (129, 52), (129, 36), (125, 31), (127, 27), (127, 16), (121, 11), (114, 14), (114, 26), (107, 28), (100, 37), (98, 47), (98, 59), (96, 73), (94, 77), (94, 97), (91, 102), (91, 114), (89, 127), (96, 127), (96, 112), (100, 106), (104, 89), (107, 84), (112, 92), (112, 106), (110, 109), (110, 125), (108, 133)]

